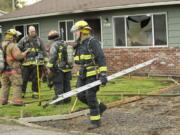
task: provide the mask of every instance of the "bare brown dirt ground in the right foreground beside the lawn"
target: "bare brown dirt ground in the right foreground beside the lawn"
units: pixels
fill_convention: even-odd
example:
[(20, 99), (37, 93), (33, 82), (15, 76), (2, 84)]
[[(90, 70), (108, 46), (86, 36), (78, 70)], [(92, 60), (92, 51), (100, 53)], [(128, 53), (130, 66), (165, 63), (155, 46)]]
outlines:
[[(170, 93), (180, 94), (180, 89)], [(89, 132), (88, 117), (37, 123), (64, 131)], [(102, 126), (90, 131), (102, 135), (179, 135), (180, 97), (148, 97), (107, 110)]]

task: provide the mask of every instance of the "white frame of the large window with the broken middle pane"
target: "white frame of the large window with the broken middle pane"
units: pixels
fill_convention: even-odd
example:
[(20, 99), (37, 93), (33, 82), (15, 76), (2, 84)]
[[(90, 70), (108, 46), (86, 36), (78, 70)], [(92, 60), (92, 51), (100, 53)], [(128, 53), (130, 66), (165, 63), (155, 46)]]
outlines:
[[(127, 46), (127, 17), (128, 16), (141, 16), (141, 15), (149, 15), (152, 20), (152, 45), (151, 46)], [(154, 34), (154, 15), (165, 15), (166, 21), (166, 45), (155, 45), (155, 34)], [(116, 34), (115, 34), (115, 18), (124, 18), (124, 27), (125, 27), (125, 46), (117, 46), (116, 45)], [(113, 48), (158, 48), (158, 47), (168, 47), (169, 46), (169, 38), (168, 38), (168, 18), (167, 12), (159, 12), (159, 13), (144, 13), (144, 14), (132, 14), (132, 15), (120, 15), (120, 16), (112, 16), (112, 30), (113, 30)]]

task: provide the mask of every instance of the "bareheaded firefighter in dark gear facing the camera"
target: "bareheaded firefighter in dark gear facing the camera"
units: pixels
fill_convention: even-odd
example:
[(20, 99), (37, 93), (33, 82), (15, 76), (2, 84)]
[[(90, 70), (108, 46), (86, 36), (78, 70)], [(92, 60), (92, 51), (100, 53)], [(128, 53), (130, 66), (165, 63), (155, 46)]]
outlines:
[[(22, 38), (18, 47), (21, 51), (26, 51), (30, 49), (27, 54), (26, 59), (22, 63), (22, 75), (23, 75), (23, 96), (25, 96), (27, 83), (32, 81), (32, 98), (38, 98), (38, 76), (37, 76), (37, 66), (41, 69), (43, 63), (40, 63), (46, 57), (46, 50), (42, 40), (37, 36), (37, 32), (34, 26), (29, 26), (28, 36)], [(37, 61), (39, 62), (37, 65)]]

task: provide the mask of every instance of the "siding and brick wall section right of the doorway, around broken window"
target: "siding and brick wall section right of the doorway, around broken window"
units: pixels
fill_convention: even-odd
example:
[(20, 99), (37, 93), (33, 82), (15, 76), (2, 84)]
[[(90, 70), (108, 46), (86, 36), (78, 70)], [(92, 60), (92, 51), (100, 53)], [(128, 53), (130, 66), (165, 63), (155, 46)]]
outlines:
[[(168, 47), (133, 47), (114, 48), (112, 16), (136, 15), (145, 13), (167, 13)], [(109, 12), (102, 15), (102, 21), (107, 19), (109, 24), (103, 23), (103, 45), (107, 58), (109, 72), (121, 71), (133, 65), (157, 57), (158, 61), (151, 66), (138, 70), (138, 74), (180, 76), (180, 6), (166, 6), (161, 8), (139, 8), (138, 10), (124, 10)], [(112, 48), (113, 47), (113, 48)]]

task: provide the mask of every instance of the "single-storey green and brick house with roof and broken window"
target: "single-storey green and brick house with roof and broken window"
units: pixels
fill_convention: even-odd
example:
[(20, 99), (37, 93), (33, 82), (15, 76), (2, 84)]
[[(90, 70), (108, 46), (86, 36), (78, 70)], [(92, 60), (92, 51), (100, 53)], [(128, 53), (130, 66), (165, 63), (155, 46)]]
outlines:
[(34, 25), (47, 40), (51, 29), (73, 42), (72, 25), (89, 22), (102, 43), (110, 72), (158, 57), (138, 74), (180, 76), (179, 0), (42, 0), (0, 17), (3, 32), (15, 27), (27, 35)]

